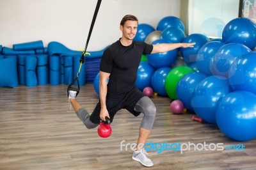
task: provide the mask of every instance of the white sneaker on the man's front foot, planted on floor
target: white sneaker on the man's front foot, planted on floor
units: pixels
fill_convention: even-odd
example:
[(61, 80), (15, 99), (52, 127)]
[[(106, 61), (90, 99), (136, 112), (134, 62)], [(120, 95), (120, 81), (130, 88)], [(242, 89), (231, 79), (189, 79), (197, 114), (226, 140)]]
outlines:
[(148, 153), (144, 149), (140, 151), (134, 151), (132, 159), (140, 162), (141, 164), (143, 164), (143, 166), (154, 166), (153, 162), (146, 155), (148, 155)]

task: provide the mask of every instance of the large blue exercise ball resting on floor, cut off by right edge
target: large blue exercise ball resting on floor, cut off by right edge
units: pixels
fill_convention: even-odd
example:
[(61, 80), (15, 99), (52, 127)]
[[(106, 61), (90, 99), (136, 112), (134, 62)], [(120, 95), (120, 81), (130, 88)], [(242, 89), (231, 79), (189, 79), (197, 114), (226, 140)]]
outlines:
[(221, 132), (235, 141), (256, 139), (256, 95), (250, 91), (233, 91), (221, 99), (216, 122)]

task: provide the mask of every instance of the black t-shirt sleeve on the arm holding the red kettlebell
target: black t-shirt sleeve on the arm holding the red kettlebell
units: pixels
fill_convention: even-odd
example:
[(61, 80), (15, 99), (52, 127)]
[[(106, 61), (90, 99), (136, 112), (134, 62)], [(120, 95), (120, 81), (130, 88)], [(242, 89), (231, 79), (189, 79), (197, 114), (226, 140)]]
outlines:
[(111, 56), (109, 49), (106, 49), (100, 60), (100, 71), (111, 73), (113, 68), (113, 57)]

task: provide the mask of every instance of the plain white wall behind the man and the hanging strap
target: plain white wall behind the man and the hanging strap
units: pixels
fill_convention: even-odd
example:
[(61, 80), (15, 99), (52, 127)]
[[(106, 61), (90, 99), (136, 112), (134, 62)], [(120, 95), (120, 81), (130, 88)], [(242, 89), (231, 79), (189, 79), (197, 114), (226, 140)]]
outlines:
[[(84, 49), (97, 0), (0, 0), (0, 45), (42, 40)], [(159, 20), (179, 17), (180, 0), (102, 0), (88, 51), (101, 50), (120, 38), (120, 20), (136, 15), (156, 28)]]

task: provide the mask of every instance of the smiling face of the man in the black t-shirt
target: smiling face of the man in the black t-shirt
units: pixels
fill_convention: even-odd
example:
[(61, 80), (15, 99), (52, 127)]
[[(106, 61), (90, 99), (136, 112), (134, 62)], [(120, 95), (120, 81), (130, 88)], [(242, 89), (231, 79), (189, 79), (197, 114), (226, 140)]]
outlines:
[(136, 20), (127, 20), (124, 26), (120, 26), (123, 37), (127, 40), (133, 40), (137, 33), (138, 22)]

